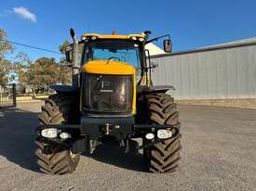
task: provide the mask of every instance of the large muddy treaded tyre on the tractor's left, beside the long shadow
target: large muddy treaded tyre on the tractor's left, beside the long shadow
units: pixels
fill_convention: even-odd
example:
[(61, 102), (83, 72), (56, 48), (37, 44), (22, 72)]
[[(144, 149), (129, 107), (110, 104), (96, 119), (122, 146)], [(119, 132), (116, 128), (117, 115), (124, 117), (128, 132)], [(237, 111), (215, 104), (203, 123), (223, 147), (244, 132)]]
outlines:
[[(42, 113), (38, 116), (41, 124), (64, 124), (70, 121), (72, 98), (69, 96), (53, 95), (46, 100)], [(35, 155), (37, 164), (42, 172), (50, 174), (64, 174), (74, 172), (80, 154), (74, 154), (62, 144), (36, 140)]]

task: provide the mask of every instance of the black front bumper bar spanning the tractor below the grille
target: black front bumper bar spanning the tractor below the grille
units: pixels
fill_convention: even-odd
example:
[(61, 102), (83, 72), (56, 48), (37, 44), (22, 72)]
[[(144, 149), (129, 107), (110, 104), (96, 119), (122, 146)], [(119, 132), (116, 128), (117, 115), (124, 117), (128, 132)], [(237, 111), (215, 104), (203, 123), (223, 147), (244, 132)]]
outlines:
[[(46, 128), (56, 128), (60, 132), (68, 132), (72, 134), (74, 139), (81, 136), (88, 136), (90, 140), (97, 140), (103, 135), (113, 135), (117, 139), (125, 139), (128, 136), (141, 136), (147, 133), (154, 133), (158, 129), (174, 128), (176, 134), (180, 131), (181, 124), (177, 125), (157, 125), (157, 124), (135, 124), (133, 117), (126, 118), (91, 118), (82, 117), (80, 124), (44, 124), (36, 128), (37, 134)], [(176, 135), (174, 134), (174, 135)], [(57, 138), (58, 139), (58, 138)]]

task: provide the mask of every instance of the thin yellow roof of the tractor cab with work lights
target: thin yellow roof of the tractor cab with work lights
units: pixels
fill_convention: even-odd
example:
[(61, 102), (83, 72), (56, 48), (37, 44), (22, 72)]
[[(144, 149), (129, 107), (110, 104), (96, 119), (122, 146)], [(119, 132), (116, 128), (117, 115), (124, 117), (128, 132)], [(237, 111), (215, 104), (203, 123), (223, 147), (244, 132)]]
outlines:
[(82, 35), (82, 40), (91, 37), (91, 36), (96, 36), (97, 38), (100, 39), (130, 39), (131, 37), (137, 37), (137, 38), (145, 38), (145, 34), (143, 33), (134, 33), (134, 34), (99, 34), (99, 33), (84, 33)]

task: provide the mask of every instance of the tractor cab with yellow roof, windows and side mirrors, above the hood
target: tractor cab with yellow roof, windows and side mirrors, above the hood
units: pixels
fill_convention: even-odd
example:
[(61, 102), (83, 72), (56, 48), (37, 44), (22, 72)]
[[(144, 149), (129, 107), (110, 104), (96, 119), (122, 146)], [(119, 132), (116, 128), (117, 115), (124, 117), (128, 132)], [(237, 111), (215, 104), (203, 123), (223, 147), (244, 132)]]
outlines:
[[(167, 37), (164, 40), (165, 52), (171, 52), (172, 47), (169, 35), (148, 40), (150, 33), (150, 31), (127, 35), (118, 35), (116, 32), (112, 32), (112, 34), (84, 33), (77, 48), (79, 54), (76, 57), (79, 57), (79, 60), (74, 60), (72, 57), (75, 52), (72, 44), (66, 50), (67, 61), (74, 62), (77, 67), (77, 63), (80, 62), (80, 67), (84, 68), (86, 68), (84, 65), (92, 60), (106, 60), (106, 63), (125, 62), (135, 69), (137, 83), (150, 86), (152, 85), (151, 69), (155, 66), (150, 61), (150, 53), (145, 45)], [(119, 65), (116, 70), (123, 69)], [(113, 72), (115, 73), (115, 70)]]

